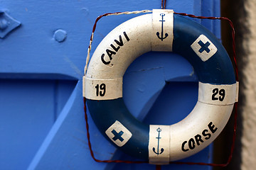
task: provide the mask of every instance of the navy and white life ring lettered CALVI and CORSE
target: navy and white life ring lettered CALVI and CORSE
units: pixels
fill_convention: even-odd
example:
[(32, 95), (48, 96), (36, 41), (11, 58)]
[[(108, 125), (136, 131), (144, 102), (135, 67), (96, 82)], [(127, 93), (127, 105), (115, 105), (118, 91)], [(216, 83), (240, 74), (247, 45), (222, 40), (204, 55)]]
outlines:
[[(174, 125), (145, 125), (124, 105), (124, 72), (149, 51), (178, 53), (198, 76), (198, 102)], [(123, 152), (151, 164), (169, 164), (215, 140), (238, 101), (238, 82), (215, 35), (172, 10), (156, 9), (122, 23), (100, 42), (83, 77), (83, 96), (97, 128)]]

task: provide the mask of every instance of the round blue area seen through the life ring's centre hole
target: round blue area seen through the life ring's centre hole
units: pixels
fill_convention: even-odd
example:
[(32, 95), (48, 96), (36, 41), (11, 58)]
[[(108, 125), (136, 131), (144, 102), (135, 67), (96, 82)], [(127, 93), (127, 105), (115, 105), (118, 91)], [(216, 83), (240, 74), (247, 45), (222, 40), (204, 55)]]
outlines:
[(127, 68), (123, 98), (130, 113), (144, 123), (171, 125), (196, 106), (198, 79), (181, 55), (147, 52)]

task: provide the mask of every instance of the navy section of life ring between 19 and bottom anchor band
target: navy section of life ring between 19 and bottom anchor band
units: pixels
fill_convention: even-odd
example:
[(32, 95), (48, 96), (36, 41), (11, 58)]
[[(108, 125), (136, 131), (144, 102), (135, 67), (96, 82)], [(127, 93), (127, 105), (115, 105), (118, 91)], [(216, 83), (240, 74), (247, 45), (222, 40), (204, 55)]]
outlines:
[(92, 119), (107, 140), (111, 141), (105, 134), (105, 131), (118, 120), (125, 128), (132, 132), (130, 140), (120, 149), (132, 157), (149, 159), (149, 125), (140, 122), (129, 113), (123, 98), (106, 101), (87, 99), (86, 101)]

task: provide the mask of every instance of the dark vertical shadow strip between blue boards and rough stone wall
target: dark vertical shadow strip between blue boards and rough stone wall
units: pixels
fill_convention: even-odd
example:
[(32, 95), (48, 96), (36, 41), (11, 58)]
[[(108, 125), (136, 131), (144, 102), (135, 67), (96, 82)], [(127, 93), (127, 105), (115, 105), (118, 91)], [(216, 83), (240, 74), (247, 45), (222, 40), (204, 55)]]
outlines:
[[(245, 12), (245, 1), (243, 0), (226, 0), (221, 1), (221, 16), (230, 18), (235, 26), (235, 41), (236, 41), (236, 54), (238, 60), (239, 77), (240, 77), (240, 89), (239, 89), (239, 103), (238, 103), (238, 128), (235, 140), (235, 150), (233, 152), (233, 159), (230, 164), (225, 168), (215, 167), (214, 170), (226, 169), (226, 170), (240, 170), (241, 169), (241, 152), (242, 152), (242, 106), (244, 105), (245, 95), (243, 89), (245, 89), (245, 84), (243, 81), (243, 73), (240, 72), (246, 64), (246, 52), (242, 47), (242, 41), (244, 40), (244, 34), (247, 33), (247, 28), (245, 26), (245, 18), (247, 18), (247, 13)], [(231, 31), (228, 23), (221, 23), (222, 30), (222, 40), (225, 49), (228, 51), (230, 57), (233, 57), (232, 50), (232, 39)], [(233, 142), (233, 125), (234, 125), (234, 111), (230, 117), (228, 124), (226, 125), (223, 132), (214, 142), (214, 160), (213, 162), (218, 164), (223, 164), (228, 161), (230, 155), (230, 148)]]

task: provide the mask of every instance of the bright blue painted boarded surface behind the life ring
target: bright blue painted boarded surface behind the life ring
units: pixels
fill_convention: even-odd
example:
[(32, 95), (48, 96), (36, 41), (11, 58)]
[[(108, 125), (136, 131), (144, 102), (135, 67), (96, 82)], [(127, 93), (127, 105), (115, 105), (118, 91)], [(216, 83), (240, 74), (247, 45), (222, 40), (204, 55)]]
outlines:
[[(220, 10), (218, 0), (170, 0), (166, 5), (176, 12), (198, 16), (218, 16)], [(87, 147), (81, 79), (97, 16), (160, 6), (161, 1), (142, 0), (0, 0), (1, 11), (21, 22), (19, 28), (0, 38), (0, 169), (155, 169), (149, 164), (101, 164), (92, 160)], [(110, 30), (134, 16), (103, 18), (97, 25), (92, 52)], [(196, 21), (220, 38), (218, 21)], [(65, 40), (56, 40), (56, 30), (67, 33)], [(191, 65), (178, 55), (143, 55), (124, 76), (124, 102), (146, 123), (171, 124), (181, 120), (196, 101), (197, 80), (191, 73)], [(165, 84), (166, 80), (170, 84)], [(174, 103), (177, 91), (183, 93)], [(185, 102), (186, 107), (181, 107)], [(105, 140), (91, 118), (89, 121), (97, 158), (129, 159)], [(186, 161), (211, 162), (211, 156), (208, 147)], [(210, 169), (163, 166), (170, 168)]]

